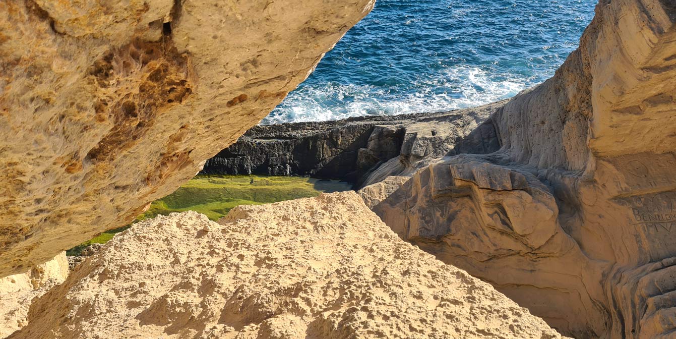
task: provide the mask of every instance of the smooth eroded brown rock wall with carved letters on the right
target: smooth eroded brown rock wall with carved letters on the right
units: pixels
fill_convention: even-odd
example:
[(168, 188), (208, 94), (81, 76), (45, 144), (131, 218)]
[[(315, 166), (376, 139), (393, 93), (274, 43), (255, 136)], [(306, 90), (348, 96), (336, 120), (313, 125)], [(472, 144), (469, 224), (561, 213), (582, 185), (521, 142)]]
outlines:
[(484, 122), (498, 148), (435, 160), (372, 209), (563, 334), (673, 338), (675, 41), (674, 1), (601, 1), (554, 78)]

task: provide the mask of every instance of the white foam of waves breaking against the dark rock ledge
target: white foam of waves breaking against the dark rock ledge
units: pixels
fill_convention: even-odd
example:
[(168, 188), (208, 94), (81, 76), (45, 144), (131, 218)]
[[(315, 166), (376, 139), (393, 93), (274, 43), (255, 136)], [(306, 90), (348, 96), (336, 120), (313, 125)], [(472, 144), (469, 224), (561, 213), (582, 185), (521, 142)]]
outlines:
[(456, 110), (512, 97), (523, 91), (529, 80), (460, 65), (403, 91), (370, 85), (303, 87), (290, 93), (262, 124)]

